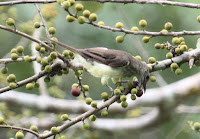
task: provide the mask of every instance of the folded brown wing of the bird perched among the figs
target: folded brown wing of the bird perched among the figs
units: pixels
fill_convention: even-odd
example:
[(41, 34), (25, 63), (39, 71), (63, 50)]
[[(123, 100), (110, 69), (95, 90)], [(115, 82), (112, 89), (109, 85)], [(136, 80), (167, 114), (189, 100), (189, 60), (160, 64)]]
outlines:
[(126, 52), (119, 50), (111, 50), (105, 48), (87, 48), (80, 50), (82, 56), (87, 60), (96, 61), (111, 67), (123, 67), (129, 64), (132, 56)]

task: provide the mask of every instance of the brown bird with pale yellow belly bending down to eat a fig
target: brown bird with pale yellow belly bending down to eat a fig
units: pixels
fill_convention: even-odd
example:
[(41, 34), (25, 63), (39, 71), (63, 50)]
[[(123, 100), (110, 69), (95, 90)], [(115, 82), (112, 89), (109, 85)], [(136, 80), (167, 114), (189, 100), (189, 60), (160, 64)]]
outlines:
[(136, 76), (139, 90), (144, 89), (144, 92), (146, 91), (146, 85), (150, 77), (149, 67), (131, 54), (105, 47), (75, 49), (58, 41), (49, 41), (72, 51), (75, 59), (92, 76), (101, 78), (102, 85), (108, 86), (109, 79), (116, 84), (122, 78)]

